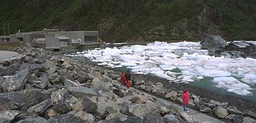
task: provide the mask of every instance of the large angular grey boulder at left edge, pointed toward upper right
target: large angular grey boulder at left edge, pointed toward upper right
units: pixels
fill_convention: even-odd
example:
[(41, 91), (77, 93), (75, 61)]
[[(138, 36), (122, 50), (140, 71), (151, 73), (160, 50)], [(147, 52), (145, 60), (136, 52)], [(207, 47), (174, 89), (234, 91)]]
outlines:
[(24, 89), (24, 85), (27, 83), (29, 74), (30, 72), (28, 70), (20, 71), (18, 74), (6, 78), (4, 82), (1, 82), (0, 87), (5, 92), (20, 91), (21, 89)]

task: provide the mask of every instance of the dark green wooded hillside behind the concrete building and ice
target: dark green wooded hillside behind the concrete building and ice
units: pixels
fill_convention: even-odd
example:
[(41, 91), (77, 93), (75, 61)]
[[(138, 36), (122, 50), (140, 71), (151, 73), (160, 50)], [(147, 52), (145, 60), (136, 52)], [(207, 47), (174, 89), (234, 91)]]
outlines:
[[(96, 30), (104, 41), (256, 39), (255, 0), (0, 0), (11, 33)], [(7, 26), (6, 26), (7, 28)]]

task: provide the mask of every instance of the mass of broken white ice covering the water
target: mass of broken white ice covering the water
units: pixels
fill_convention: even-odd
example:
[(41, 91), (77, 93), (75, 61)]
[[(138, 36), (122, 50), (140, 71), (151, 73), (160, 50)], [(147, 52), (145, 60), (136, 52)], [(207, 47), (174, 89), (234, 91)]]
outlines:
[(210, 56), (209, 51), (200, 48), (200, 42), (153, 42), (82, 51), (69, 56), (85, 56), (98, 65), (127, 67), (136, 74), (152, 74), (171, 82), (187, 83), (212, 77), (218, 88), (238, 95), (251, 94), (251, 86), (256, 84), (256, 59)]

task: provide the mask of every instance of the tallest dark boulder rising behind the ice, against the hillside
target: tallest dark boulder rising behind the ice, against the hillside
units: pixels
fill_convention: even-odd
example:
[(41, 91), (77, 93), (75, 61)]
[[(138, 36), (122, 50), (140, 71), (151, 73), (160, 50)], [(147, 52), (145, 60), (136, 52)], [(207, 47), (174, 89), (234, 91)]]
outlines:
[(208, 49), (211, 52), (222, 52), (228, 45), (220, 35), (210, 34), (204, 34), (200, 44), (202, 49)]

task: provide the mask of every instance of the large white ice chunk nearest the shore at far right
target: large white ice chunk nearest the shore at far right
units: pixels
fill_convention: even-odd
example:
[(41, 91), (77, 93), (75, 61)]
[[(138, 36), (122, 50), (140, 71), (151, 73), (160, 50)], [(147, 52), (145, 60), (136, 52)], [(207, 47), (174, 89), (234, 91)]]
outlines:
[(248, 91), (252, 89), (249, 85), (239, 82), (233, 77), (218, 77), (214, 78), (213, 82), (217, 83), (217, 88), (223, 88), (238, 95), (251, 94), (251, 92)]

